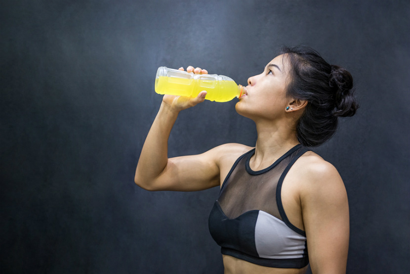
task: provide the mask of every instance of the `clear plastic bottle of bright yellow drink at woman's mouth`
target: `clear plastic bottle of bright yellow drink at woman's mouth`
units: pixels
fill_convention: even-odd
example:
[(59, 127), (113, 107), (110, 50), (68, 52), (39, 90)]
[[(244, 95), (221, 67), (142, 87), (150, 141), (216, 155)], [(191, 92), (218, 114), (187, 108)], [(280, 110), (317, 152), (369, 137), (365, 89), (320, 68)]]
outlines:
[(227, 102), (241, 97), (246, 92), (246, 87), (237, 85), (234, 80), (223, 75), (194, 74), (167, 67), (158, 68), (155, 92), (196, 97), (201, 91), (207, 91), (207, 100)]

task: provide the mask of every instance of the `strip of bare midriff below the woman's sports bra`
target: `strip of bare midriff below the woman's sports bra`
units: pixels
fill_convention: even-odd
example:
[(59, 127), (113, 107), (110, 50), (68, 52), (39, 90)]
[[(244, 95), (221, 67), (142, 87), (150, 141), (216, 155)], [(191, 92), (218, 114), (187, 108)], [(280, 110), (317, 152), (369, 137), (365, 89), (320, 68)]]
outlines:
[(270, 268), (255, 265), (232, 256), (222, 255), (225, 274), (304, 274), (307, 266), (302, 269)]

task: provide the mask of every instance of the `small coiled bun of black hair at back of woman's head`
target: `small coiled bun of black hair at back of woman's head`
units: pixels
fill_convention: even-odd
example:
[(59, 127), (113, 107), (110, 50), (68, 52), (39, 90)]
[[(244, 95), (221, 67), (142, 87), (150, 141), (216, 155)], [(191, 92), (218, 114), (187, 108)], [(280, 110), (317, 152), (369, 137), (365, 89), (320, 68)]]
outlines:
[(353, 116), (358, 104), (353, 95), (353, 77), (342, 67), (331, 65), (329, 85), (334, 89), (333, 115), (336, 117)]

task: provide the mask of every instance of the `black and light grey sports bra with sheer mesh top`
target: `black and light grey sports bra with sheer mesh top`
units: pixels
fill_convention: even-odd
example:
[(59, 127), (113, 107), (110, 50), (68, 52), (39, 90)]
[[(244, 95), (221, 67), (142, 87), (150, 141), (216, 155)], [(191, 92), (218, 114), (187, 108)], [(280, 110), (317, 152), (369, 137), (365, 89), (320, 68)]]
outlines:
[(260, 171), (249, 166), (255, 149), (238, 158), (208, 219), (209, 232), (222, 254), (265, 267), (307, 266), (306, 233), (289, 222), (281, 199), (288, 170), (306, 151), (298, 144)]

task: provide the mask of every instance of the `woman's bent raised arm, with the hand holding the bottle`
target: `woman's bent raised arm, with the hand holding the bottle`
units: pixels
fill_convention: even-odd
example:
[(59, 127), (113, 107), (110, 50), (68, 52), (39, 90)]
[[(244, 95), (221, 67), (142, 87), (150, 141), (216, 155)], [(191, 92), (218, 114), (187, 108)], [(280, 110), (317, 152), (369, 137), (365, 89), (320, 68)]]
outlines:
[[(188, 68), (187, 71), (193, 68)], [(196, 73), (206, 73), (195, 69)], [(134, 181), (147, 190), (194, 191), (219, 185), (217, 157), (220, 148), (199, 155), (168, 159), (168, 137), (179, 111), (205, 100), (206, 91), (197, 97), (164, 95), (157, 117), (142, 147)]]

